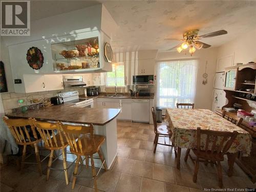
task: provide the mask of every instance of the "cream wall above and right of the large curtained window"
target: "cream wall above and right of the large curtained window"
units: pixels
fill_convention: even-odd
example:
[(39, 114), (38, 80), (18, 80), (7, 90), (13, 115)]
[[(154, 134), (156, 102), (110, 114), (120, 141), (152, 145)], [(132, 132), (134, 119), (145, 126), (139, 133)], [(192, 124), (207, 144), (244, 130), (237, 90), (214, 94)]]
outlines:
[[(217, 62), (217, 49), (208, 48), (197, 50), (193, 56), (190, 56), (189, 53), (178, 53), (177, 51), (172, 52), (159, 52), (156, 60), (174, 60), (174, 59), (199, 59), (199, 67), (197, 74), (197, 85), (196, 85), (196, 96), (195, 96), (195, 108), (198, 109), (211, 109), (212, 105), (212, 91), (214, 84), (214, 76), (216, 73), (216, 62)], [(207, 81), (208, 83), (203, 85), (202, 75), (205, 72), (205, 65), (207, 61), (207, 70), (208, 74)]]

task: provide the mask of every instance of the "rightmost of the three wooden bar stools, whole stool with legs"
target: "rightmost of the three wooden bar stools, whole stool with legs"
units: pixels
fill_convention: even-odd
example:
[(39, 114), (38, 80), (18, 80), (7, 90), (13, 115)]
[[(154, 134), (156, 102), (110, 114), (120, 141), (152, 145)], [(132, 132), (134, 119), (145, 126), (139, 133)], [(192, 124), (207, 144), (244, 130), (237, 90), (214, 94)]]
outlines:
[[(108, 170), (108, 167), (106, 166), (105, 160), (100, 150), (101, 145), (105, 141), (105, 137), (102, 135), (94, 134), (93, 124), (90, 124), (88, 126), (59, 124), (59, 126), (61, 127), (61, 130), (63, 131), (63, 134), (65, 135), (69, 143), (70, 152), (77, 156), (76, 165), (75, 165), (74, 174), (73, 174), (74, 178), (73, 178), (72, 189), (74, 189), (75, 187), (77, 177), (84, 177), (84, 178), (93, 179), (95, 191), (98, 191), (97, 176), (100, 172), (100, 169), (102, 166), (104, 166), (105, 171)], [(93, 155), (96, 153), (98, 153), (99, 158), (93, 157)], [(84, 161), (84, 159), (81, 160), (81, 156), (85, 156), (84, 159), (86, 160), (87, 168), (89, 165), (89, 158), (91, 159), (92, 177), (77, 175), (79, 162), (81, 163)], [(95, 172), (94, 159), (100, 159), (102, 162), (97, 174)]]

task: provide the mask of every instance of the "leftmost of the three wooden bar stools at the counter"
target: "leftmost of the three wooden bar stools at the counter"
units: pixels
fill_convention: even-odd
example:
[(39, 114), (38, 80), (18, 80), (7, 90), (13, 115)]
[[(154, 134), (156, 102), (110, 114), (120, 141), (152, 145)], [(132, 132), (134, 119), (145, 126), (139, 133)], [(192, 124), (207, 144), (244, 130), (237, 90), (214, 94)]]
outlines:
[[(39, 150), (37, 144), (41, 141), (41, 138), (37, 137), (35, 127), (31, 119), (8, 119), (4, 117), (4, 122), (9, 127), (12, 136), (18, 145), (23, 145), (22, 162), (20, 166), (20, 172), (23, 173), (24, 164), (37, 164), (38, 172), (42, 175), (41, 161), (39, 156)], [(34, 147), (36, 163), (25, 162), (27, 156), (27, 146), (32, 145)]]

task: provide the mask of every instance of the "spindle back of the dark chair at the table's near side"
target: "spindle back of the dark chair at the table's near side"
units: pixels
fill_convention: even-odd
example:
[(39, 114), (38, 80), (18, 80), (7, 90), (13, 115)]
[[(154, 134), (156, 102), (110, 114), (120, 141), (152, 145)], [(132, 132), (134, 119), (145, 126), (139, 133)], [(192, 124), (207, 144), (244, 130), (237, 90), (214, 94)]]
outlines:
[[(197, 127), (197, 150), (200, 150), (201, 148), (202, 134), (206, 135), (205, 151), (211, 151), (211, 154), (213, 154), (214, 152), (217, 152), (224, 155), (229, 150), (229, 147), (233, 143), (234, 139), (236, 139), (238, 132), (237, 131), (219, 132), (219, 131), (201, 130), (200, 127)], [(220, 144), (217, 145), (217, 141), (219, 138), (220, 139), (222, 138), (222, 139), (220, 140)], [(212, 141), (211, 148), (209, 148), (210, 141)]]

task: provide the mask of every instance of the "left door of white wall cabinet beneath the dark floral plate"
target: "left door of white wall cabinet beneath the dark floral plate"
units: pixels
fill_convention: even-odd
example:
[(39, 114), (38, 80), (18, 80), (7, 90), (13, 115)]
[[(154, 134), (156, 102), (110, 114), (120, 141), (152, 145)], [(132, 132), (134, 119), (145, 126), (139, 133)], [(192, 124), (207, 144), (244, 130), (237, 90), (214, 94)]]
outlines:
[(46, 91), (46, 83), (44, 75), (23, 75), (25, 92), (33, 93)]

